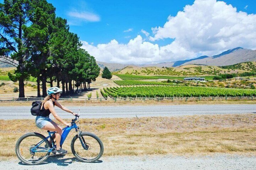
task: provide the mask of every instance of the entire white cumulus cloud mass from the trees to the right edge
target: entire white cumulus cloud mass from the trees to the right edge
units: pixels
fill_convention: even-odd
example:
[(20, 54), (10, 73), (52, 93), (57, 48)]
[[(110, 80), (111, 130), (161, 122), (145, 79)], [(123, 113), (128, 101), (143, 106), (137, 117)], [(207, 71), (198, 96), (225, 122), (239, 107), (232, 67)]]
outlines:
[[(143, 29), (141, 32), (149, 35)], [(136, 64), (211, 56), (235, 47), (256, 49), (256, 15), (237, 12), (222, 1), (195, 0), (176, 16), (169, 16), (163, 26), (152, 28), (152, 33), (149, 39), (154, 43), (139, 35), (127, 44), (116, 40), (97, 46), (83, 42), (82, 48), (99, 61)], [(155, 44), (169, 38), (174, 39), (169, 45)]]

